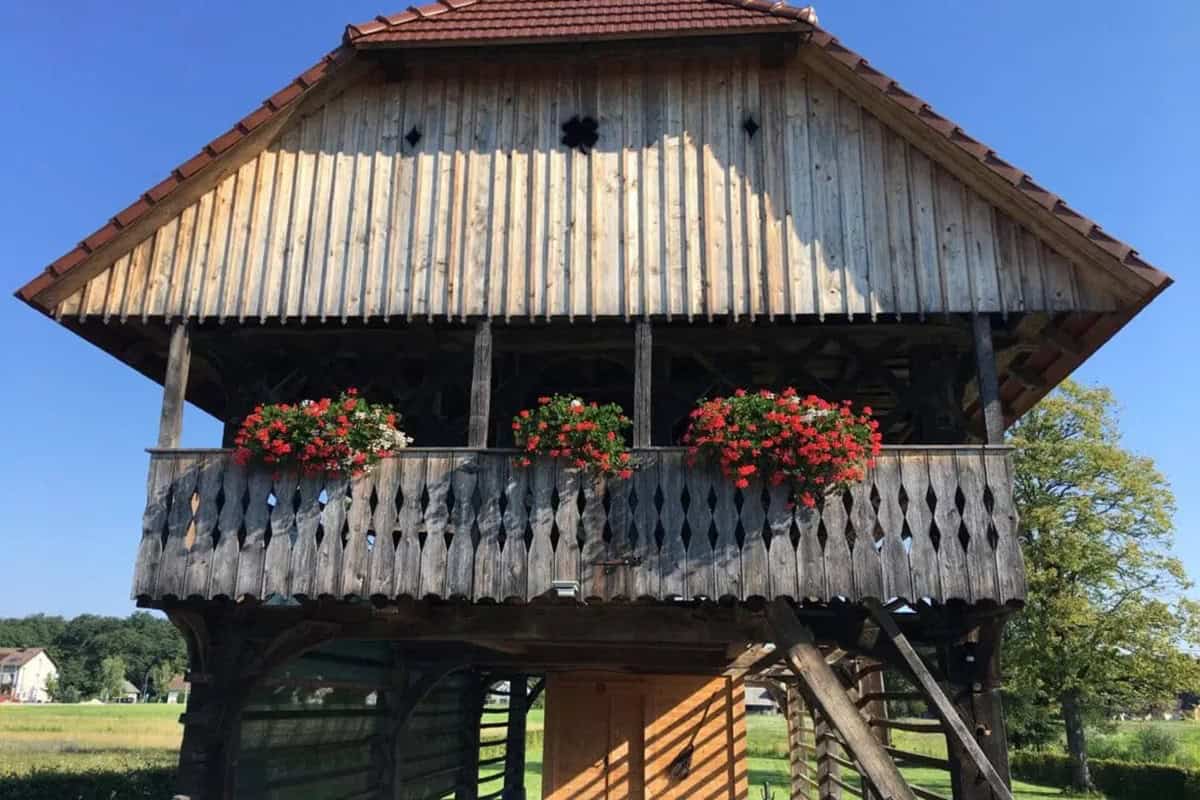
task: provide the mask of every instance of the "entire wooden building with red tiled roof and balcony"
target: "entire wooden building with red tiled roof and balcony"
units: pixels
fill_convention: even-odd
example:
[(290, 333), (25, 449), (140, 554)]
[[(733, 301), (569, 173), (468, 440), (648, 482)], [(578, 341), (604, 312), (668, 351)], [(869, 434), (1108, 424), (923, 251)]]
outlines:
[[(130, 547), (188, 639), (181, 795), (521, 798), (545, 687), (545, 796), (745, 798), (752, 679), (793, 798), (936, 798), (907, 726), (966, 800), (1009, 796), (1003, 429), (1169, 283), (809, 8), (442, 0), (18, 296), (164, 389)], [(185, 402), (228, 445), (348, 385), (419, 446), (353, 481), (179, 449)], [(816, 510), (677, 447), (697, 398), (782, 385), (883, 426)], [(553, 391), (630, 409), (632, 479), (512, 467)], [(887, 720), (886, 669), (937, 722)]]

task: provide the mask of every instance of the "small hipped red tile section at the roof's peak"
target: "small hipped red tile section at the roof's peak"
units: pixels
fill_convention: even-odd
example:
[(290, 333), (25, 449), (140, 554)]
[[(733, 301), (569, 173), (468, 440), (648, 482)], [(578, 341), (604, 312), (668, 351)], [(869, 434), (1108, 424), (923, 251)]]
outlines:
[[(774, 13), (764, 13), (772, 12)], [(346, 29), (354, 47), (542, 38), (629, 38), (773, 29), (811, 8), (725, 0), (440, 0)]]

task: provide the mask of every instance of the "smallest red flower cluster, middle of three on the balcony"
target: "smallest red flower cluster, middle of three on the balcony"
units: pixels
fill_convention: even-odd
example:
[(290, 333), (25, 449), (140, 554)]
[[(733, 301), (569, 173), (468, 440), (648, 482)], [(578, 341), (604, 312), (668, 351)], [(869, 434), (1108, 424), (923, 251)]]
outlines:
[(574, 395), (539, 397), (538, 405), (512, 417), (512, 438), (522, 455), (518, 467), (536, 456), (562, 458), (608, 477), (632, 474), (625, 431), (629, 417), (616, 403), (587, 403)]

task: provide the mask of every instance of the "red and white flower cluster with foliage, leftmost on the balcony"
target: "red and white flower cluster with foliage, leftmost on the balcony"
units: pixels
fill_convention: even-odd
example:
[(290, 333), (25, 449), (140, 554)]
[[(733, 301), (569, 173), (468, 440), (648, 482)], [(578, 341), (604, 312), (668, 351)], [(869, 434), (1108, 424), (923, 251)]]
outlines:
[(386, 404), (368, 403), (358, 390), (337, 399), (259, 405), (234, 439), (239, 464), (262, 463), (317, 473), (361, 474), (412, 439), (397, 427), (400, 415)]

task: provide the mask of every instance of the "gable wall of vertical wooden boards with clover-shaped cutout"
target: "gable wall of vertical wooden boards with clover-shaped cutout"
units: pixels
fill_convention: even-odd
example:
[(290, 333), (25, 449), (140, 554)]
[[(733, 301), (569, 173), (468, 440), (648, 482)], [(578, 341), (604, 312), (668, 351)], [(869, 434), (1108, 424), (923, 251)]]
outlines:
[[(575, 115), (599, 121), (589, 155), (560, 143)], [(823, 79), (708, 59), (418, 67), (354, 88), (58, 313), (690, 320), (1114, 306)]]

